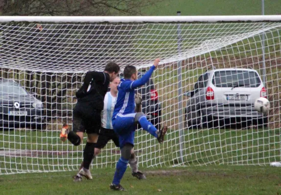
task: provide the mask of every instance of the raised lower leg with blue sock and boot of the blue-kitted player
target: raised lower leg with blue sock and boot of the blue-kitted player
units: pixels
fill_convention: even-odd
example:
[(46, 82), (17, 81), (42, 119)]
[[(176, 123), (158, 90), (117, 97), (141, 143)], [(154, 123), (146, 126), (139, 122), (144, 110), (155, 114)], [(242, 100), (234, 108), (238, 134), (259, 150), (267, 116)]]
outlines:
[(147, 120), (146, 116), (143, 113), (137, 113), (134, 122), (139, 122), (141, 124), (141, 127), (145, 131), (158, 139), (159, 143), (162, 143), (164, 141), (164, 136), (167, 132), (167, 126), (164, 125), (164, 127), (160, 131), (157, 130), (153, 126), (153, 124)]

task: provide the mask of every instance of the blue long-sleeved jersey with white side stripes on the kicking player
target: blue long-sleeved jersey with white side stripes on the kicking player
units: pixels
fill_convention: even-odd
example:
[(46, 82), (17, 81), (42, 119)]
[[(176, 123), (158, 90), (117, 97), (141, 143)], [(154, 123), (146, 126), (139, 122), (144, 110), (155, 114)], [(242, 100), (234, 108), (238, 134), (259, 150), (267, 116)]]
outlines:
[(135, 113), (135, 89), (145, 85), (154, 69), (155, 66), (152, 66), (147, 73), (135, 81), (124, 78), (120, 80), (112, 119), (115, 119), (117, 116), (122, 117), (123, 115)]

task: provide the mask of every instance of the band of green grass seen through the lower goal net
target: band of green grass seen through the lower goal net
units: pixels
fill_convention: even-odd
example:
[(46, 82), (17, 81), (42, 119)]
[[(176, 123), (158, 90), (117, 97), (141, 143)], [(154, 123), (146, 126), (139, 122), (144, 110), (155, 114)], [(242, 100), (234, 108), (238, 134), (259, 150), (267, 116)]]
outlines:
[[(164, 144), (137, 131), (135, 150), (141, 167), (173, 165), (264, 165), (280, 161), (280, 129), (204, 129), (184, 130), (180, 158), (179, 131), (169, 130)], [(81, 163), (83, 146), (61, 143), (56, 131), (10, 131), (0, 134), (0, 150), (23, 150), (16, 156), (0, 156), (0, 173), (76, 170)], [(26, 153), (24, 150), (33, 151)], [(110, 142), (94, 161), (94, 167), (114, 167), (119, 158)]]

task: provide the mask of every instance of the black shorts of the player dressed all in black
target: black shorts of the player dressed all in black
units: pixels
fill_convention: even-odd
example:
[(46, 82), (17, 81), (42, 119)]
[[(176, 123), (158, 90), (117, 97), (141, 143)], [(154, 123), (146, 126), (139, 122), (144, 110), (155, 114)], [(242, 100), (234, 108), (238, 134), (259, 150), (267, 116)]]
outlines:
[(72, 112), (72, 131), (98, 134), (101, 127), (101, 111), (76, 104)]

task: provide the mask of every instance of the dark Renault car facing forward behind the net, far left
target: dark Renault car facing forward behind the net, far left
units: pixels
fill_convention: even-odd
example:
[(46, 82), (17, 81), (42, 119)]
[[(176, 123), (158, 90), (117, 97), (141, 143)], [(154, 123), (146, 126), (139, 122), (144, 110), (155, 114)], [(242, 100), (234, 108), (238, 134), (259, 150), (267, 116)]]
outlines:
[(46, 128), (43, 103), (18, 82), (0, 79), (0, 126)]

